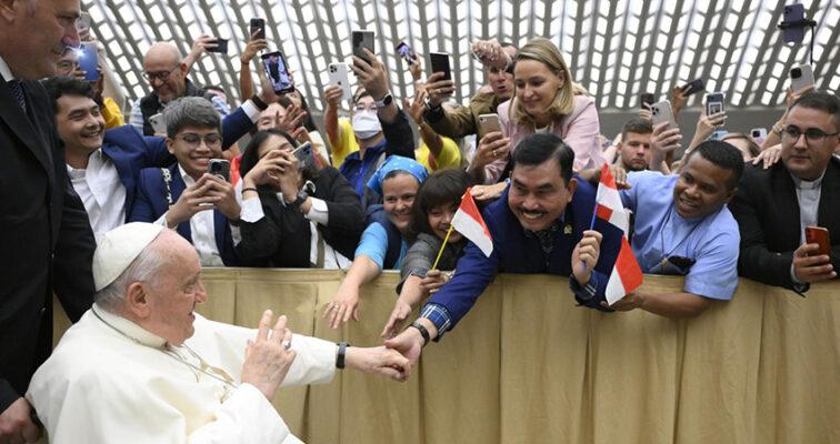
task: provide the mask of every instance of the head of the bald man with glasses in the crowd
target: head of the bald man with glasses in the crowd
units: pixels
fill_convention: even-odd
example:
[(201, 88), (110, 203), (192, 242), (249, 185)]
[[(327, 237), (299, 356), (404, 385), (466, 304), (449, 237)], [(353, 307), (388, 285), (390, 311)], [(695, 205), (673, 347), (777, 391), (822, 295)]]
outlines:
[(152, 44), (143, 57), (143, 70), (152, 91), (161, 101), (169, 102), (183, 97), (187, 90), (187, 65), (173, 44)]

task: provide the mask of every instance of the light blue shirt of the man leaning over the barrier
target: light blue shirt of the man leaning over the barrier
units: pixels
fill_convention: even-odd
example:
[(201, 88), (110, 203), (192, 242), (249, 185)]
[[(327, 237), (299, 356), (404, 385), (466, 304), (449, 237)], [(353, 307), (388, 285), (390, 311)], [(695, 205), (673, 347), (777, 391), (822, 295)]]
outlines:
[[(630, 246), (643, 273), (683, 274), (683, 291), (719, 300), (732, 299), (738, 286), (738, 254), (741, 235), (729, 209), (703, 218), (684, 219), (673, 206), (673, 186), (679, 176), (639, 171), (628, 174), (630, 190), (621, 201), (636, 214)], [(670, 215), (669, 215), (670, 214)], [(662, 261), (672, 256), (693, 259), (679, 269)]]

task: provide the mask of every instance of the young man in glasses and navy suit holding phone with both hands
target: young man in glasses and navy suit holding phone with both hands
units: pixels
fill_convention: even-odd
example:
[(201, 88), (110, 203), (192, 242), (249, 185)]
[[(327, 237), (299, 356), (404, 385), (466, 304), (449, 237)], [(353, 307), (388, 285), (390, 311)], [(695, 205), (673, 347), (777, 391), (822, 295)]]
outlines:
[(208, 173), (210, 161), (221, 159), (219, 113), (210, 102), (188, 97), (172, 102), (163, 115), (167, 147), (178, 162), (140, 172), (129, 219), (177, 229), (204, 266), (238, 265), (230, 221), (239, 220), (241, 206), (233, 185)]

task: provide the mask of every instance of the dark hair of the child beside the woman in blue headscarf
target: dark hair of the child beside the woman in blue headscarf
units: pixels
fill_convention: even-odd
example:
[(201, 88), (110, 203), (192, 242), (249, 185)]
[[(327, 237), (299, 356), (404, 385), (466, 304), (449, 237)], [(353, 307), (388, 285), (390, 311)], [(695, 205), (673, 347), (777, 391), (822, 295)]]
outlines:
[(472, 185), (472, 176), (460, 168), (443, 168), (426, 178), (417, 190), (414, 204), (411, 206), (411, 236), (420, 233), (432, 234), (429, 211), (446, 204), (460, 205), (461, 196)]

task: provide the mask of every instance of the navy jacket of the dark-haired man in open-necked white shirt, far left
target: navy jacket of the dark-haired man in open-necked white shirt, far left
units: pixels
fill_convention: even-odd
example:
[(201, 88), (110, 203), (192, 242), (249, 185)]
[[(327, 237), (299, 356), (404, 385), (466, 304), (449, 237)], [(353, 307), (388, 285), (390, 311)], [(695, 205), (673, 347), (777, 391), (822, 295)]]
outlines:
[[(227, 150), (253, 125), (241, 108), (222, 119), (222, 150)], [(122, 185), (126, 186), (126, 221), (134, 206), (136, 185), (140, 170), (151, 167), (169, 167), (174, 155), (169, 153), (166, 138), (143, 135), (132, 125), (122, 125), (104, 132), (102, 152), (117, 167)]]

